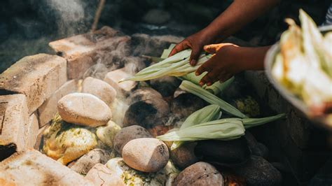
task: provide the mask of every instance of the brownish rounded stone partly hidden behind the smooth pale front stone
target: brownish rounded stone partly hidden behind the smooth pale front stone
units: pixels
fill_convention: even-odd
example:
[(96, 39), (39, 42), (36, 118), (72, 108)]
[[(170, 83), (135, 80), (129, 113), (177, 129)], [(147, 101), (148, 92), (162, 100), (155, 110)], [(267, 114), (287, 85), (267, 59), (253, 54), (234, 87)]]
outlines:
[(146, 129), (138, 125), (132, 125), (130, 127), (125, 127), (120, 129), (113, 140), (113, 148), (122, 155), (122, 150), (128, 141), (137, 138), (152, 138), (151, 134), (148, 133)]

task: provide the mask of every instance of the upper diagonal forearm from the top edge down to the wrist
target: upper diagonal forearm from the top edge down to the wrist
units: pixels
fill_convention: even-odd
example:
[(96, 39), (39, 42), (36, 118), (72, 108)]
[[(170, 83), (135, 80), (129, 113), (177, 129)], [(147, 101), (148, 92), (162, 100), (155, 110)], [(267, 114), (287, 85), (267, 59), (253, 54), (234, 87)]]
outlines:
[(204, 31), (214, 37), (216, 42), (220, 42), (276, 6), (277, 3), (279, 0), (235, 0)]

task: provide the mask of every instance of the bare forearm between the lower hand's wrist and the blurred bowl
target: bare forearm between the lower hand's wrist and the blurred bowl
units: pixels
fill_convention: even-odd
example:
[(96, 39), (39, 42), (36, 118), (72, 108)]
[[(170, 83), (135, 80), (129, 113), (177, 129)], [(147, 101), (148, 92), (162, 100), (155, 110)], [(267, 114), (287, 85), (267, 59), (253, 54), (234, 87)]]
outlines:
[(237, 50), (235, 59), (240, 62), (242, 71), (261, 71), (264, 70), (265, 55), (271, 46), (247, 48), (241, 47)]

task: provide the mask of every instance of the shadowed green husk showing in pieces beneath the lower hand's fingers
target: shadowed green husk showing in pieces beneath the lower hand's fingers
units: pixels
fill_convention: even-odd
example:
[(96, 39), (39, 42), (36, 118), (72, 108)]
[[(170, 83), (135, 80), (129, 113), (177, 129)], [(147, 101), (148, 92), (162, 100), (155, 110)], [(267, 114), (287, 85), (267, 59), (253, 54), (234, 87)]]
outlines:
[[(192, 83), (195, 83), (196, 85), (200, 84), (200, 80), (207, 74), (207, 72), (202, 73), (200, 76), (196, 76), (195, 73), (188, 73), (185, 76), (181, 76), (179, 77), (179, 79), (181, 80), (188, 80), (191, 81)], [(207, 85), (203, 85), (202, 88), (211, 92), (212, 94), (219, 94), (220, 92), (223, 92), (223, 90), (225, 90), (227, 87), (230, 86), (230, 84), (233, 83), (234, 81), (234, 76), (232, 78), (230, 78), (229, 80), (226, 80), (226, 82), (224, 83), (220, 83), (219, 81), (217, 81), (216, 83), (207, 86)]]

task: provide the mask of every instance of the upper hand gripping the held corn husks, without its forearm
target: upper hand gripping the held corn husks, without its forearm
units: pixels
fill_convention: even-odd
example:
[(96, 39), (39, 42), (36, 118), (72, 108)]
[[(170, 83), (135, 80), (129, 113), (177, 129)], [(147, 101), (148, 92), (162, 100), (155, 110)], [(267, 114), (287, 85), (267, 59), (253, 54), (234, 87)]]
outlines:
[(191, 48), (191, 57), (189, 63), (195, 66), (198, 62), (198, 57), (203, 50), (204, 45), (209, 45), (214, 43), (215, 39), (213, 34), (209, 34), (209, 31), (202, 29), (196, 34), (188, 36), (183, 41), (174, 46), (173, 50), (170, 52), (170, 56), (175, 55), (177, 52)]

